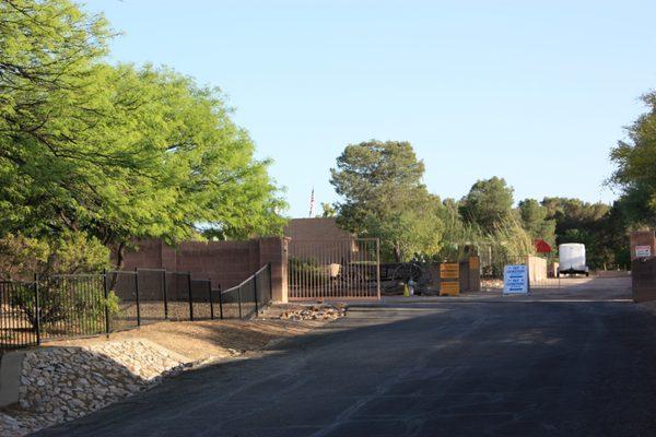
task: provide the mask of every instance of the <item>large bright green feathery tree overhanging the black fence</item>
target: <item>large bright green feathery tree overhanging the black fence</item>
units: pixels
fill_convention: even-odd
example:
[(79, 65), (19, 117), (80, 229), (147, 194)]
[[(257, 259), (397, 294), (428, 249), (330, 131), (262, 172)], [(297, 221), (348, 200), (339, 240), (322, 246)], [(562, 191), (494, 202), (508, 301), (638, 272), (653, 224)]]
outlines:
[(280, 233), (284, 202), (219, 90), (104, 63), (107, 25), (66, 0), (0, 0), (0, 233), (122, 249), (199, 228)]

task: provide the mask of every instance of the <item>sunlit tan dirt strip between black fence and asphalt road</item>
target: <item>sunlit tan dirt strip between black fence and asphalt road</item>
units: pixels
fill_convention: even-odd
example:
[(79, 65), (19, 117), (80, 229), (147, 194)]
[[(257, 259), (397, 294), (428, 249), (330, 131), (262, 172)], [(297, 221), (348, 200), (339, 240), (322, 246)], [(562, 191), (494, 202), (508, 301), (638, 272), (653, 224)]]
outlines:
[(324, 321), (204, 320), (164, 321), (109, 336), (51, 341), (46, 346), (82, 346), (91, 343), (147, 339), (194, 362), (206, 362), (260, 350), (268, 344), (325, 324)]

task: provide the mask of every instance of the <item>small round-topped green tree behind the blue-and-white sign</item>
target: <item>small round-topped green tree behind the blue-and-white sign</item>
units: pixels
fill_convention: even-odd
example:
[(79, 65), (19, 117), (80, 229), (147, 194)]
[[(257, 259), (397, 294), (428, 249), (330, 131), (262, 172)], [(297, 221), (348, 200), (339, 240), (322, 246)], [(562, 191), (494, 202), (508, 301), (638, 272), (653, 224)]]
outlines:
[(478, 180), (460, 202), (460, 214), (478, 224), (485, 233), (494, 232), (499, 223), (512, 214), (513, 189), (496, 176)]

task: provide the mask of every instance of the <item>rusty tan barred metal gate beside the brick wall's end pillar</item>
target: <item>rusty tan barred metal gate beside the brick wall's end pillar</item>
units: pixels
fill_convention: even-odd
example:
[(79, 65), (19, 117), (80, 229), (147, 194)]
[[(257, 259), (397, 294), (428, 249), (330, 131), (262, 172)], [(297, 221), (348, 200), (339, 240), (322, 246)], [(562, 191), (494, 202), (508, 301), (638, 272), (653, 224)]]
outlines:
[(290, 300), (379, 299), (377, 238), (292, 239), (289, 244)]

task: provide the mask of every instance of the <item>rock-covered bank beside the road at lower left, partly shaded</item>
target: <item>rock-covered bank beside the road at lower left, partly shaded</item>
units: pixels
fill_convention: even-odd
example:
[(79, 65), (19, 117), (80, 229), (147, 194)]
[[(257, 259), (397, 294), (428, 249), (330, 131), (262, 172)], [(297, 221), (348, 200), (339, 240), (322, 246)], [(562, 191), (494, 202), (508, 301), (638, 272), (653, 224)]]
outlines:
[(190, 365), (143, 340), (31, 351), (23, 358), (20, 408), (8, 411), (13, 417), (0, 416), (0, 435), (24, 435), (83, 416)]

